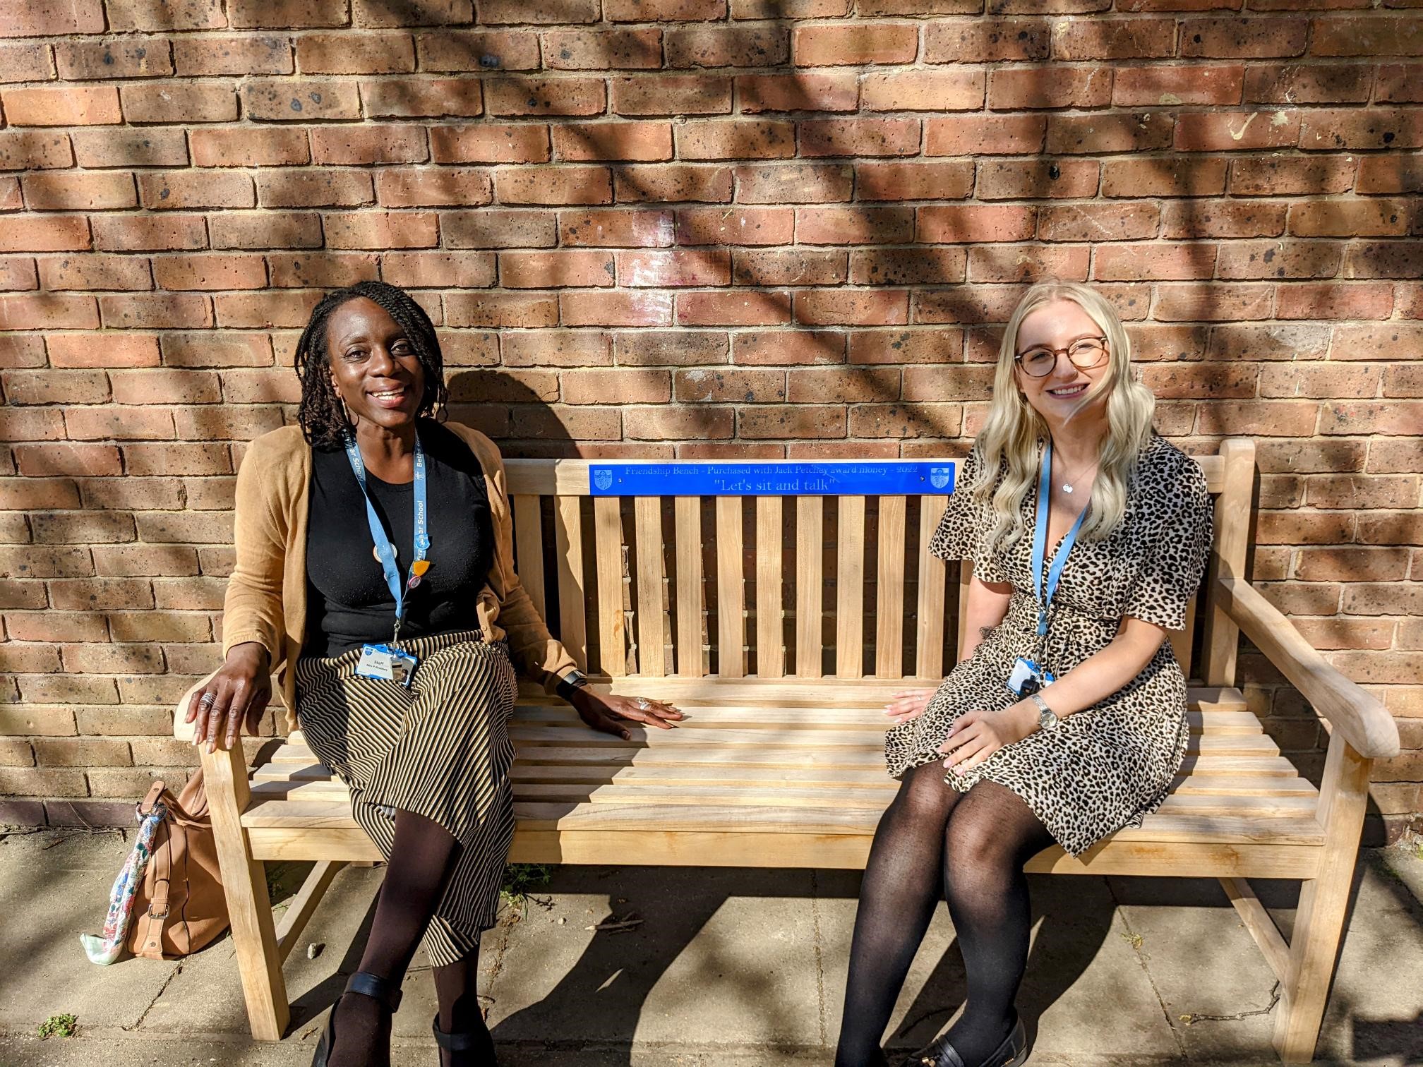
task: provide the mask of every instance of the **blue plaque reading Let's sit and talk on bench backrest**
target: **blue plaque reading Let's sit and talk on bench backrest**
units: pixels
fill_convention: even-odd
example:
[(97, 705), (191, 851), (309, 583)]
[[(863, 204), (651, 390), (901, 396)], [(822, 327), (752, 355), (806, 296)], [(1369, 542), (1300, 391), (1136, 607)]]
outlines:
[(953, 460), (589, 464), (593, 497), (914, 497), (953, 492)]

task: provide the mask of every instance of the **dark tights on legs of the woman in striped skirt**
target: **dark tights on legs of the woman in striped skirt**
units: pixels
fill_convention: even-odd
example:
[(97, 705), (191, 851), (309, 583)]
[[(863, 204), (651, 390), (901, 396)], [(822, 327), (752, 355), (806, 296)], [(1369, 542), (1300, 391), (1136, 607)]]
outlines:
[[(360, 959), (361, 970), (400, 984), (440, 903), (458, 848), (460, 844), (438, 822), (410, 811), (396, 812), (396, 839), (376, 902), (370, 939)], [(474, 1061), (492, 1064), (494, 1039), (480, 1012), (477, 975), (477, 955), (434, 969), (440, 1029), (477, 1034)], [(468, 1056), (462, 1058), (468, 1061)], [(441, 1051), (441, 1063), (448, 1061), (448, 1053)], [(386, 1009), (366, 996), (343, 996), (336, 1006), (336, 1047), (329, 1063), (330, 1067), (390, 1064), (390, 1014)]]

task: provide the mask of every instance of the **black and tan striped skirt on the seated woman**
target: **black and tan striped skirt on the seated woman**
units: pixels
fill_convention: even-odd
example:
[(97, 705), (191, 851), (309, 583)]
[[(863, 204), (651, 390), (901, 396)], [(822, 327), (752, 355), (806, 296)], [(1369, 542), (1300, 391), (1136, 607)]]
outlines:
[(351, 791), (351, 815), (390, 859), (396, 809), (438, 822), (460, 842), (424, 946), (434, 966), (478, 949), (494, 926), (514, 838), (508, 721), (517, 683), (504, 644), (477, 630), (416, 637), (411, 687), (356, 676), (360, 649), (296, 664), (307, 744)]

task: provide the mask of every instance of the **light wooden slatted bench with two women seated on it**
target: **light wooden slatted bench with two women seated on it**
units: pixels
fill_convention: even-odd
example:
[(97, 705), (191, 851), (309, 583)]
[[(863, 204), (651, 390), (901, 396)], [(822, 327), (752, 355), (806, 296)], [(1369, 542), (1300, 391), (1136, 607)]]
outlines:
[[(1200, 462), (1217, 495), (1215, 546), (1202, 607), (1192, 602), (1185, 630), (1173, 635), (1192, 679), (1185, 765), (1140, 829), (1080, 861), (1052, 848), (1027, 869), (1221, 879), (1282, 984), (1275, 1047), (1303, 1063), (1343, 929), (1369, 764), (1397, 753), (1397, 730), (1245, 580), (1254, 445), (1225, 441)], [(936, 481), (952, 465), (941, 461)], [(946, 566), (926, 551), (946, 497), (932, 487), (751, 501), (592, 495), (591, 478), (606, 482), (608, 468), (508, 464), (519, 573), (599, 684), (667, 697), (690, 718), (622, 741), (525, 686), (512, 723), (511, 861), (862, 866), (895, 788), (881, 708), (906, 684), (938, 684), (958, 647), (970, 565)], [(1279, 754), (1235, 687), (1241, 630), (1323, 717), (1321, 790)], [(181, 720), (179, 708), (178, 736), (188, 733)], [(282, 960), (339, 866), (379, 854), (351, 819), (344, 785), (299, 733), (250, 781), (238, 754), (203, 754), (202, 764), (252, 1033), (276, 1040), (289, 1021)], [(268, 861), (317, 861), (280, 926)], [(1292, 943), (1249, 878), (1303, 882)]]

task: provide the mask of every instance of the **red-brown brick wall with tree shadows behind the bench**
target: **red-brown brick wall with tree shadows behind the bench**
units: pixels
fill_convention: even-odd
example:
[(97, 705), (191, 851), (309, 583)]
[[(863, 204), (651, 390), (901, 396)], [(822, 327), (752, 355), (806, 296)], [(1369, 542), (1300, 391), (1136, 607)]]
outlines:
[(359, 277), (509, 454), (659, 457), (962, 454), (1022, 283), (1099, 283), (1164, 434), (1258, 441), (1252, 576), (1419, 811), (1423, 17), (850, 3), (0, 0), (0, 821), (181, 777), (233, 471)]

